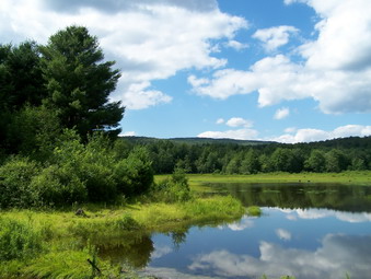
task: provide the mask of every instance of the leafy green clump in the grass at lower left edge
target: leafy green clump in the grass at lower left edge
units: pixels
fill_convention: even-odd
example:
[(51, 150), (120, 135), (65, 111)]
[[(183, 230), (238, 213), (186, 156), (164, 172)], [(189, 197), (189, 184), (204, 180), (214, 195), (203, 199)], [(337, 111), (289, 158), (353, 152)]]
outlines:
[(31, 222), (0, 218), (0, 261), (32, 258), (42, 249), (40, 234)]

